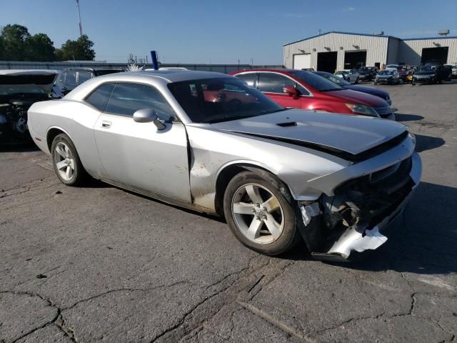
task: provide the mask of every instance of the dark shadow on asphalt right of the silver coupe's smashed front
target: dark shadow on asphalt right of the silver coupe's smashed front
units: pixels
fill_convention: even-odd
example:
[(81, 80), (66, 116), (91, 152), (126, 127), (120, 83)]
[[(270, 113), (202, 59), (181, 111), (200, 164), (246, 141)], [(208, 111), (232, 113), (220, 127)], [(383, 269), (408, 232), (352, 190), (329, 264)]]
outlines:
[(422, 182), (386, 244), (370, 252), (368, 258), (342, 267), (373, 272), (456, 273), (455, 199), (456, 188)]

